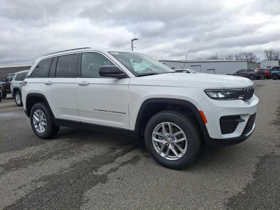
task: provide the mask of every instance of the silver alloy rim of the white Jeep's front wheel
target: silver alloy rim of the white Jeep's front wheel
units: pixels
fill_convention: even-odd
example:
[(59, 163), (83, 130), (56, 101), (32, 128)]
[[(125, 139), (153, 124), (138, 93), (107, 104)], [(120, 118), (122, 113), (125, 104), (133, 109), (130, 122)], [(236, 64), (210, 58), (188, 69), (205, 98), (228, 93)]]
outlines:
[(165, 159), (178, 160), (186, 153), (188, 142), (183, 130), (174, 123), (158, 124), (152, 134), (153, 147)]

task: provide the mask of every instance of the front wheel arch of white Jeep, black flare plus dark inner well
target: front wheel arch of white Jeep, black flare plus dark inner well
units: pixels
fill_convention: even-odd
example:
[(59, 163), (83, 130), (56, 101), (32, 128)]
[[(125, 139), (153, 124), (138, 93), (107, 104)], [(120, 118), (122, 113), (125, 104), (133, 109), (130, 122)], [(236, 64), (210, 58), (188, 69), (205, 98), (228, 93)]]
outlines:
[(136, 136), (143, 136), (147, 122), (154, 114), (166, 109), (180, 110), (180, 108), (198, 121), (203, 133), (208, 133), (199, 110), (192, 102), (173, 98), (149, 98), (142, 103), (139, 109), (134, 131), (131, 131), (132, 134)]

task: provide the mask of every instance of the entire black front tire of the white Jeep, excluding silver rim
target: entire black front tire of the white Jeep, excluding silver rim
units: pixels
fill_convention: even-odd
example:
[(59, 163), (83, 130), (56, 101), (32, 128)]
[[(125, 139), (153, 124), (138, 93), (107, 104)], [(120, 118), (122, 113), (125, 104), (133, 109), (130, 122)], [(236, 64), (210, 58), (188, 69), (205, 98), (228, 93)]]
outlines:
[[(187, 151), (177, 160), (168, 160), (160, 156), (155, 150), (152, 141), (152, 133), (157, 125), (163, 122), (174, 123), (179, 126), (187, 138)], [(199, 124), (184, 112), (165, 110), (154, 115), (145, 128), (145, 144), (148, 152), (160, 165), (171, 169), (184, 169), (192, 164), (200, 149), (202, 148), (203, 137)]]

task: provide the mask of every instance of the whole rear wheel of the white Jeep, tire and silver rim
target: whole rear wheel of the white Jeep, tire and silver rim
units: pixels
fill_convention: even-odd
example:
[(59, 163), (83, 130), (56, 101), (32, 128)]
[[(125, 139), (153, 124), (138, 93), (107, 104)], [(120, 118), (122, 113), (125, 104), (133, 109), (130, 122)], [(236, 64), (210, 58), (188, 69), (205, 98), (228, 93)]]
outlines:
[(34, 133), (42, 139), (48, 139), (58, 133), (59, 126), (55, 126), (51, 113), (45, 103), (36, 103), (30, 112), (30, 123)]

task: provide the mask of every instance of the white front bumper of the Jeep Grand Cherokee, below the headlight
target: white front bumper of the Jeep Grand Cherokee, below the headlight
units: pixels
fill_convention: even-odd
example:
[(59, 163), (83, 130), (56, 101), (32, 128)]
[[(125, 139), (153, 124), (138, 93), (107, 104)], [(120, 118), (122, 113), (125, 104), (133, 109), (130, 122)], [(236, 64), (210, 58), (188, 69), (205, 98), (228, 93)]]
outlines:
[[(242, 100), (213, 100), (209, 97), (204, 98), (199, 103), (196, 104), (198, 110), (202, 110), (207, 123), (205, 124), (207, 128), (207, 134), (204, 133), (206, 142), (208, 139), (214, 139), (212, 141), (220, 142), (225, 140), (226, 145), (235, 144), (247, 139), (253, 132), (249, 132), (249, 135), (242, 135), (243, 130), (248, 122), (251, 115), (257, 112), (259, 106), (259, 99), (254, 95), (254, 100), (251, 103), (245, 103)], [(235, 131), (229, 134), (222, 134), (220, 128), (220, 118), (222, 116), (239, 115), (243, 122), (239, 122)], [(217, 139), (217, 140), (216, 140)], [(232, 143), (230, 143), (232, 142)]]

